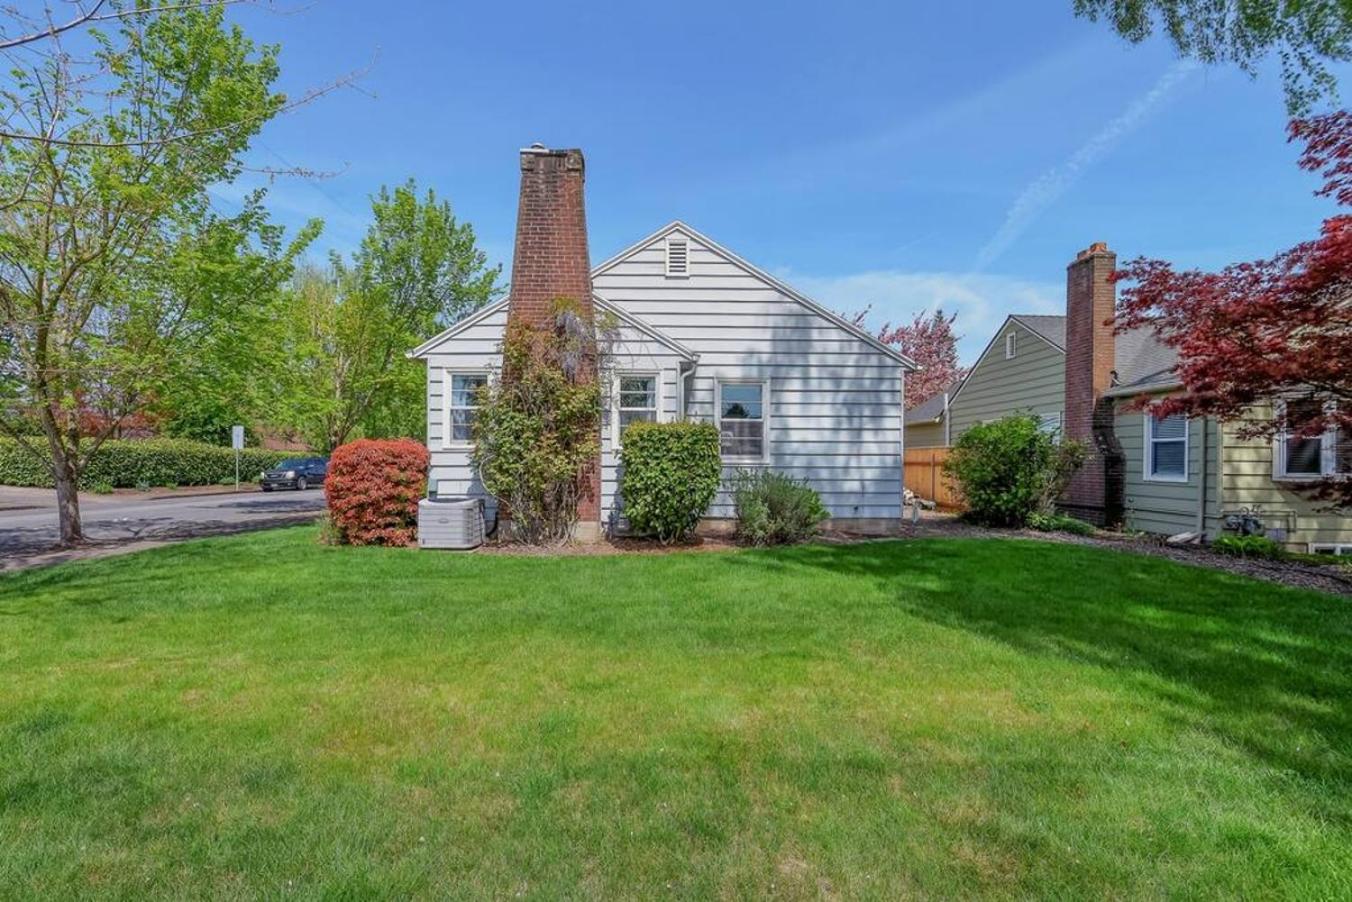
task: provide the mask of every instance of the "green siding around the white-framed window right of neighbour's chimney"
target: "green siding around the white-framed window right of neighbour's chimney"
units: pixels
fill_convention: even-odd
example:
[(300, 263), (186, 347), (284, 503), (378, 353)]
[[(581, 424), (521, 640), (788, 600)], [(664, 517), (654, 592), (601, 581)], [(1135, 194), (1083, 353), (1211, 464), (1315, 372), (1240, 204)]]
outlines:
[(1161, 536), (1197, 531), (1198, 491), (1202, 484), (1202, 429), (1206, 429), (1206, 496), (1205, 530), (1207, 537), (1220, 534), (1220, 435), (1214, 421), (1188, 421), (1188, 462), (1186, 483), (1145, 479), (1145, 414), (1118, 411), (1114, 431), (1122, 445), (1126, 473), (1124, 500), (1126, 527)]

